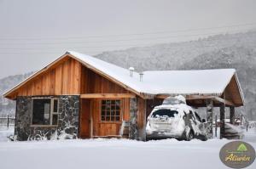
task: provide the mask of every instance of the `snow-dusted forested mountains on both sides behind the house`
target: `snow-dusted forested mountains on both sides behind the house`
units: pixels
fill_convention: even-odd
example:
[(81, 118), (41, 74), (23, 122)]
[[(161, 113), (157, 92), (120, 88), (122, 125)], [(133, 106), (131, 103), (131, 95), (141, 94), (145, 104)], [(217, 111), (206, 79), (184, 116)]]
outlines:
[[(109, 51), (95, 57), (127, 69), (132, 66), (136, 71), (235, 68), (246, 102), (241, 111), (256, 120), (256, 31)], [(0, 80), (0, 92), (2, 87), (7, 89), (24, 77), (9, 76)], [(1, 111), (6, 110), (0, 107)]]

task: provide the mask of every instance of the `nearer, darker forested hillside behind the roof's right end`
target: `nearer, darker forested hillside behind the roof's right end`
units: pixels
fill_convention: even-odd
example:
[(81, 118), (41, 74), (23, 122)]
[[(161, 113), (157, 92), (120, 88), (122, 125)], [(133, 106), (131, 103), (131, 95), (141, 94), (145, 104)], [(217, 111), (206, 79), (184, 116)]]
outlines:
[(235, 68), (245, 97), (245, 108), (249, 119), (256, 119), (256, 50), (244, 46), (221, 48), (201, 54), (181, 66), (183, 70)]

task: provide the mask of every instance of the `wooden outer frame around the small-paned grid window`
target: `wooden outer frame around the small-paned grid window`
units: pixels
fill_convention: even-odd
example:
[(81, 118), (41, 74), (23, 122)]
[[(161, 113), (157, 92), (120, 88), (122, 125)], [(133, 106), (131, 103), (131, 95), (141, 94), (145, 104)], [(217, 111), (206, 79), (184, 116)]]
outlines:
[[(120, 107), (120, 110), (119, 110), (120, 111), (119, 112), (120, 113), (119, 121), (102, 121), (102, 101), (103, 100), (105, 100), (105, 101), (107, 101), (107, 100), (119, 100), (120, 101), (120, 105), (119, 105), (119, 107)], [(124, 108), (123, 108), (123, 99), (100, 99), (99, 100), (99, 107), (100, 107), (100, 109), (99, 109), (99, 120), (100, 120), (101, 123), (122, 123), (122, 121), (123, 121), (123, 110), (124, 110)]]

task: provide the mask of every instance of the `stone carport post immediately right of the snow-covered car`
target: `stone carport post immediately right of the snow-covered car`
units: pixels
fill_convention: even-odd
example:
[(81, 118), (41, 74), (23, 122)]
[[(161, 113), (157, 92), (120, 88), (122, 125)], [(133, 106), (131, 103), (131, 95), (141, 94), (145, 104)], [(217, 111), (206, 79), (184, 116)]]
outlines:
[(212, 120), (213, 120), (213, 101), (212, 99), (207, 100), (207, 138), (213, 138), (212, 131)]

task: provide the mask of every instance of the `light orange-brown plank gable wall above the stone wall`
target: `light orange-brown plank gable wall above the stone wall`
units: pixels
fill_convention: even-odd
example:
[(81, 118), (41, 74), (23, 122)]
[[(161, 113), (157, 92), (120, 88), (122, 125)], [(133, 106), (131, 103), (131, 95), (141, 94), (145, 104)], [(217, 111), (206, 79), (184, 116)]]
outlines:
[(75, 59), (54, 65), (18, 90), (18, 96), (65, 95), (80, 93), (81, 64)]

